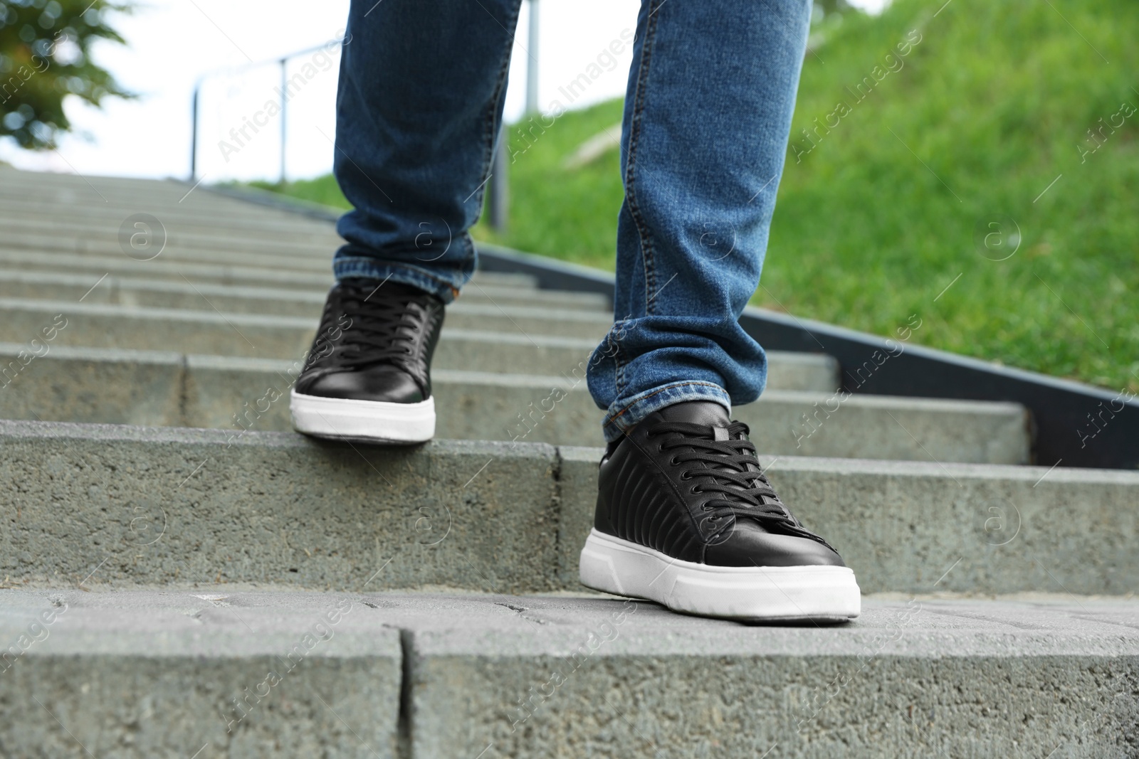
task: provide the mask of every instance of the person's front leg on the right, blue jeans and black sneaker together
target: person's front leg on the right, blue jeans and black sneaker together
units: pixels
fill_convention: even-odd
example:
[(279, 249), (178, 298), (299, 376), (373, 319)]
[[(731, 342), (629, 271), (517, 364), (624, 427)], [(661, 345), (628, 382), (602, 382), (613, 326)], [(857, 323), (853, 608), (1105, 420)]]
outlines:
[[(857, 617), (854, 574), (782, 504), (732, 403), (767, 380), (760, 280), (810, 0), (644, 0), (622, 134), (616, 323), (581, 580), (712, 617)], [(762, 430), (761, 430), (762, 432)]]

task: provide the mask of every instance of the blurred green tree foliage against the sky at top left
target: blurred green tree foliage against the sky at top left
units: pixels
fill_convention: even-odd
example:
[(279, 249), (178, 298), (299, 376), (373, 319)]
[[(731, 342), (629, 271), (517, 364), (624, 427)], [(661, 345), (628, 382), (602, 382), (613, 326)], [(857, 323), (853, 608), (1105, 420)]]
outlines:
[(96, 40), (124, 43), (106, 16), (129, 10), (105, 0), (0, 0), (0, 137), (54, 148), (71, 129), (67, 96), (93, 106), (132, 97), (90, 56)]

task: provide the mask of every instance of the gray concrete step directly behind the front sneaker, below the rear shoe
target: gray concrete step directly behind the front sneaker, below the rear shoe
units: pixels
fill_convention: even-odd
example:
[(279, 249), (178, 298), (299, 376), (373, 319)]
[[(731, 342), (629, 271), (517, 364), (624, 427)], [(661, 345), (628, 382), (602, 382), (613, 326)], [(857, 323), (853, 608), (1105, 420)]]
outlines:
[[(600, 448), (0, 422), (0, 576), (89, 587), (579, 587)], [(1128, 594), (1139, 472), (761, 456), (863, 592)], [(106, 561), (104, 561), (106, 560)]]

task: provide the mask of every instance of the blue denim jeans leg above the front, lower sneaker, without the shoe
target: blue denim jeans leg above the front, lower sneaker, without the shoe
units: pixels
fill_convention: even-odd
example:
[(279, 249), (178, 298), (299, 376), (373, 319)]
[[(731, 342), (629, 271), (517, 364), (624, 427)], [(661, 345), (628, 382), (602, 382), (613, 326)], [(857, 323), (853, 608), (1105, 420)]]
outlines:
[(616, 324), (589, 389), (607, 440), (679, 401), (759, 397), (737, 320), (760, 281), (809, 0), (644, 0), (621, 140)]

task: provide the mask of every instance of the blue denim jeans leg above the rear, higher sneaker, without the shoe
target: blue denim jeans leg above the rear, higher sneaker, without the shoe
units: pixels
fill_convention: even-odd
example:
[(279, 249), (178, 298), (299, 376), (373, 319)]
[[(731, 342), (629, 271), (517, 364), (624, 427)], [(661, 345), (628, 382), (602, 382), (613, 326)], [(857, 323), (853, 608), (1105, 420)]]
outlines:
[(353, 0), (336, 99), (334, 172), (355, 211), (337, 279), (451, 302), (475, 269), (522, 0)]

